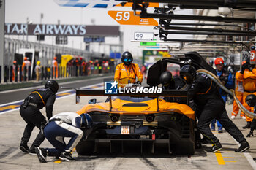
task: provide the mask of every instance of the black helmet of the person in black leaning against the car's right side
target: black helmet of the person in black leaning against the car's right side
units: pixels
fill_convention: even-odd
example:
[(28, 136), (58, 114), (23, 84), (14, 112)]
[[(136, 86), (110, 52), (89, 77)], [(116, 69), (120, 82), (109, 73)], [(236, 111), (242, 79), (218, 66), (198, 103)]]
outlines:
[(185, 65), (181, 67), (180, 76), (188, 83), (191, 84), (195, 80), (196, 70), (194, 66)]

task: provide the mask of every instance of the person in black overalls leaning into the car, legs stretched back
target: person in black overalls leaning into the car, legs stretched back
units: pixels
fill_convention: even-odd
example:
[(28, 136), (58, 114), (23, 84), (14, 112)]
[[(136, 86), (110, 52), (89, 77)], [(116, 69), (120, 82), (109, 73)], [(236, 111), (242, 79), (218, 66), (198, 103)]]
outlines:
[(233, 136), (241, 145), (235, 150), (244, 152), (249, 149), (249, 143), (236, 125), (228, 118), (225, 103), (220, 96), (219, 88), (209, 77), (204, 74), (197, 74), (195, 68), (190, 65), (181, 67), (180, 76), (189, 84), (188, 96), (197, 105), (196, 116), (198, 119), (197, 129), (213, 144), (212, 152), (222, 149), (219, 139), (212, 134), (209, 124), (214, 118), (225, 130)]

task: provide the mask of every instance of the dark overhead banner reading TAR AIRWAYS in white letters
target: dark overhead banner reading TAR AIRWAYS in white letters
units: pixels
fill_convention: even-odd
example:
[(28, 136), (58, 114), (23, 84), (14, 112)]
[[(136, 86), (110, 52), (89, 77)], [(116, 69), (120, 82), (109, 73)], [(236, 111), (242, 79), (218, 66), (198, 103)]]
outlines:
[(118, 36), (119, 26), (85, 26), (5, 23), (4, 34), (7, 35), (45, 35), (45, 36)]

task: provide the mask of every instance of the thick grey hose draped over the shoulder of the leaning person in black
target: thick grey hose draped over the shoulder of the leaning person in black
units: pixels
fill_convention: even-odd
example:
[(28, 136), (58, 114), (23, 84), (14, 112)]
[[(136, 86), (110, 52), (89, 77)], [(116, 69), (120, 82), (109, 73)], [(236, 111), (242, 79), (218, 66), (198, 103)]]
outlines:
[(248, 117), (251, 118), (256, 118), (256, 114), (253, 112), (250, 112), (249, 110), (247, 110), (243, 104), (240, 103), (240, 101), (238, 100), (238, 98), (236, 97), (236, 93), (233, 89), (228, 90), (224, 85), (222, 85), (222, 82), (220, 82), (219, 78), (213, 74), (212, 72), (208, 72), (206, 69), (198, 69), (197, 73), (200, 74), (205, 74), (207, 75), (211, 80), (213, 80), (218, 86), (219, 88), (222, 88), (222, 90), (225, 90), (225, 92), (229, 93), (231, 96), (233, 96), (233, 98), (236, 101), (236, 104), (238, 105), (239, 109), (241, 109), (242, 112), (244, 112), (244, 114)]

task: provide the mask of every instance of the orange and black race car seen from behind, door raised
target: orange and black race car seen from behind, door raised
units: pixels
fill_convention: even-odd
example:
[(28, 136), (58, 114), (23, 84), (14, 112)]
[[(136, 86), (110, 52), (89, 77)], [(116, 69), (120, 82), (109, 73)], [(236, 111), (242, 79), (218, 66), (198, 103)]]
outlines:
[[(143, 88), (159, 85), (160, 74), (170, 64), (181, 67), (188, 63), (197, 69), (214, 72), (197, 53), (187, 53), (180, 59), (163, 58), (148, 70), (148, 87)], [(171, 65), (170, 68), (173, 67)], [(165, 148), (176, 155), (195, 153), (195, 112), (188, 106), (186, 87), (162, 90), (161, 93), (117, 94), (105, 94), (105, 90), (78, 89), (76, 95), (77, 98), (108, 96), (105, 102), (91, 99), (89, 104), (78, 110), (78, 114), (88, 113), (94, 121), (93, 127), (85, 132), (87, 138), (76, 147), (80, 155), (100, 152), (102, 147), (109, 152), (129, 152), (133, 146), (140, 152), (154, 153), (157, 148)], [(173, 101), (165, 100), (167, 97), (173, 98)]]

